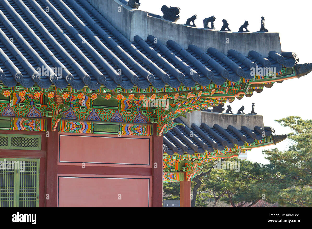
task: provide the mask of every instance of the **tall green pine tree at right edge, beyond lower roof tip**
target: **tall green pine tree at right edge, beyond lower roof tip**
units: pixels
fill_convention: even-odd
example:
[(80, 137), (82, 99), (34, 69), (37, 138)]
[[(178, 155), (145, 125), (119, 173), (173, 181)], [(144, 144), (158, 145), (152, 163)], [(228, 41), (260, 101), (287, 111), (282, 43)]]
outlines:
[(275, 121), (294, 132), (288, 134), (293, 142), (288, 150), (263, 151), (275, 174), (271, 195), (285, 207), (312, 207), (312, 120), (289, 116)]

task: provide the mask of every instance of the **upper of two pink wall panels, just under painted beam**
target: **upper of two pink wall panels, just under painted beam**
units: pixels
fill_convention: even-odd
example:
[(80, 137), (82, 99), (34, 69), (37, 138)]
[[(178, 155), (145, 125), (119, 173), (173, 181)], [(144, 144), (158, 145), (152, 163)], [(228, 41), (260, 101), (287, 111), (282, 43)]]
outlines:
[(111, 163), (150, 165), (150, 139), (60, 134), (59, 164)]

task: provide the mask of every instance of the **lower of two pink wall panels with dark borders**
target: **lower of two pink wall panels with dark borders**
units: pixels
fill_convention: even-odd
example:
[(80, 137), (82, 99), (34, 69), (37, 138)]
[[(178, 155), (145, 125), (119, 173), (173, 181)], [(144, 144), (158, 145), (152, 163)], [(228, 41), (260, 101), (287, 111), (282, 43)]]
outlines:
[(59, 207), (149, 207), (149, 178), (59, 177), (58, 184)]

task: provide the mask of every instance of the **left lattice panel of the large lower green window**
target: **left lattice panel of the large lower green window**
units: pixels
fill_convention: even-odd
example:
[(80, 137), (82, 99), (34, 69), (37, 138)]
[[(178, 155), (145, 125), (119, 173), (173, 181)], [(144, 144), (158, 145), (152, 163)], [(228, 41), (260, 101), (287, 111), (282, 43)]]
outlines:
[(14, 169), (0, 168), (0, 207), (14, 207)]

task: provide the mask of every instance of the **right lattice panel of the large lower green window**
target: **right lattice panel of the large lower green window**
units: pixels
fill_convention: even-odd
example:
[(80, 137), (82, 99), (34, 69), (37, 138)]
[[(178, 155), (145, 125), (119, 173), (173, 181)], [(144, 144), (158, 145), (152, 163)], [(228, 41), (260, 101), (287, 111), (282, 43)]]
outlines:
[(19, 207), (36, 207), (37, 162), (25, 161), (25, 171), (19, 178)]

